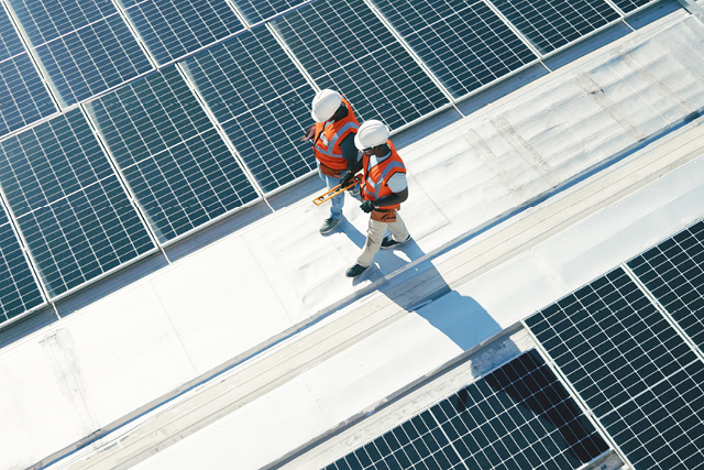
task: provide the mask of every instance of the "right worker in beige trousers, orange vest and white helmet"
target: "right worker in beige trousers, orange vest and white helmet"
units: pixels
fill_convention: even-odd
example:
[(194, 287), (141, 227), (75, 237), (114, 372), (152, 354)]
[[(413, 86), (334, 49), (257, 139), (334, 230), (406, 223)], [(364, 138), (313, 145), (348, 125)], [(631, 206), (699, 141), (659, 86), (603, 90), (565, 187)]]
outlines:
[[(346, 271), (348, 277), (359, 277), (374, 262), (374, 255), (382, 249), (406, 243), (410, 233), (398, 215), (400, 204), (408, 199), (406, 166), (388, 140), (388, 128), (375, 119), (364, 121), (354, 144), (363, 152), (361, 162), (342, 177), (345, 186), (354, 174), (362, 170), (360, 208), (370, 215), (366, 243), (356, 263)], [(391, 231), (384, 237), (386, 229)]]

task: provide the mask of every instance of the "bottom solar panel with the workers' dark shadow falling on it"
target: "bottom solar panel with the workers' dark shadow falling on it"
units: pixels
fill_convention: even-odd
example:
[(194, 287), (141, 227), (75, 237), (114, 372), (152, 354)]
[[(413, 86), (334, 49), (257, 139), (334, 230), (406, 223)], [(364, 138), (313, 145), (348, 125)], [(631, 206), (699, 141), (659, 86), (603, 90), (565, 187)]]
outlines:
[(326, 467), (576, 469), (608, 449), (535, 351)]

